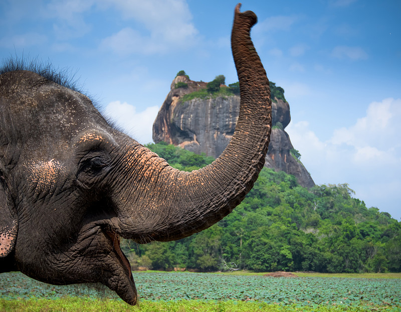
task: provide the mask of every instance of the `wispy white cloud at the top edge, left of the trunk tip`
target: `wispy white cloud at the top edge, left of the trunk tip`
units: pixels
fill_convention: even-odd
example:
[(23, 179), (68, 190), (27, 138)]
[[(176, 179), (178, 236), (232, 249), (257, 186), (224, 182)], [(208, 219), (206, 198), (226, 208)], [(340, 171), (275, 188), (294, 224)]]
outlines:
[(126, 20), (139, 22), (146, 31), (124, 28), (105, 38), (102, 47), (117, 53), (154, 54), (187, 48), (196, 43), (198, 31), (183, 0), (104, 0), (104, 3), (115, 6)]

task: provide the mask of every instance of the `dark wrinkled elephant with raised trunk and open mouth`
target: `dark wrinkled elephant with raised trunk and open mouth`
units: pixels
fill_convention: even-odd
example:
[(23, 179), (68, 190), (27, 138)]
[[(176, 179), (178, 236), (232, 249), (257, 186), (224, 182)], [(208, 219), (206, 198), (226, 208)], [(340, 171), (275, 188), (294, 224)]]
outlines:
[(124, 134), (58, 74), (13, 60), (3, 67), (0, 273), (55, 285), (102, 283), (134, 305), (120, 237), (141, 244), (181, 239), (244, 199), (265, 162), (272, 113), (269, 80), (250, 37), (257, 17), (240, 7), (231, 34), (241, 91), (237, 127), (218, 159), (190, 173)]

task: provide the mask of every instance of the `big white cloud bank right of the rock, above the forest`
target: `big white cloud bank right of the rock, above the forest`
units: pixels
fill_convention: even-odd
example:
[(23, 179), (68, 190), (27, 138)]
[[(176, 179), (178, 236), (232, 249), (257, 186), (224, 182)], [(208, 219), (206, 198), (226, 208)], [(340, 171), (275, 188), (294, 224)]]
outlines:
[(286, 131), (317, 184), (348, 183), (366, 205), (399, 219), (401, 210), (401, 99), (372, 102), (362, 118), (321, 141), (306, 121)]

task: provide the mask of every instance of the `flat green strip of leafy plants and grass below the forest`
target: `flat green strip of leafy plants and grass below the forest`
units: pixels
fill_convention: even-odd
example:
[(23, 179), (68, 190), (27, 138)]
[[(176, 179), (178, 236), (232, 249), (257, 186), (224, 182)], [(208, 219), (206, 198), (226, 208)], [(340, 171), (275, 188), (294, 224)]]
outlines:
[(136, 307), (105, 287), (54, 286), (3, 273), (0, 311), (401, 311), (399, 273), (295, 273), (298, 278), (241, 273), (133, 272)]

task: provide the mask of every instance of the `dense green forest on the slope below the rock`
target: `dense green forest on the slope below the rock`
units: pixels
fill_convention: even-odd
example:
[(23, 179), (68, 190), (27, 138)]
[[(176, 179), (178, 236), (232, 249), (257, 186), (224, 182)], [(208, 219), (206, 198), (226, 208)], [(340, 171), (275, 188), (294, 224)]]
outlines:
[[(166, 143), (146, 146), (179, 170), (214, 161)], [(121, 247), (133, 269), (400, 272), (401, 223), (353, 194), (347, 184), (308, 190), (294, 176), (264, 168), (244, 201), (209, 229)]]

